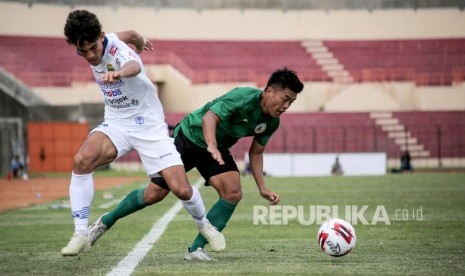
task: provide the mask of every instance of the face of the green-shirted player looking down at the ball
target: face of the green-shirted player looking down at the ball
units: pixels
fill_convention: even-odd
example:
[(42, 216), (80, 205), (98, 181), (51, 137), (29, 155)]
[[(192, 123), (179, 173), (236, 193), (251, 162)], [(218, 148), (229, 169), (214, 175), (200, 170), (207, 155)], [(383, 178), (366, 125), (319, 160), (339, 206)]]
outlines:
[(273, 118), (281, 116), (297, 99), (297, 93), (289, 88), (275, 89), (269, 86), (264, 94), (263, 111)]

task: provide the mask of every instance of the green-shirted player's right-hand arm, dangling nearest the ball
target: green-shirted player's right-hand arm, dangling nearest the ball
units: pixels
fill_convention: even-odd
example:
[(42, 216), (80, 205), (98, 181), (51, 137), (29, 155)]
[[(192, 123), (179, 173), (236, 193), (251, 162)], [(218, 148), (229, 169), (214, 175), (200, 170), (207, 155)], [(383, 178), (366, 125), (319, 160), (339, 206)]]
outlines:
[(271, 205), (279, 203), (279, 195), (269, 190), (265, 186), (265, 178), (263, 177), (263, 152), (265, 151), (265, 146), (260, 145), (257, 140), (252, 141), (249, 149), (249, 162), (250, 170), (257, 184), (258, 191), (260, 195), (268, 200)]

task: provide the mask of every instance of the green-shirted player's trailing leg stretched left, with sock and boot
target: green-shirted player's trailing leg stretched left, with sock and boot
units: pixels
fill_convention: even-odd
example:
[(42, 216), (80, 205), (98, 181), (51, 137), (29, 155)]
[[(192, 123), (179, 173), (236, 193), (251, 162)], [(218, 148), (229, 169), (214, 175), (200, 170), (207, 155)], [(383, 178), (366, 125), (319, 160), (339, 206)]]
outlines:
[[(153, 178), (162, 182), (161, 177)], [(89, 227), (89, 241), (91, 246), (110, 229), (119, 219), (135, 213), (146, 206), (162, 201), (169, 193), (168, 189), (149, 183), (146, 188), (133, 190), (119, 204), (108, 213), (100, 216)]]

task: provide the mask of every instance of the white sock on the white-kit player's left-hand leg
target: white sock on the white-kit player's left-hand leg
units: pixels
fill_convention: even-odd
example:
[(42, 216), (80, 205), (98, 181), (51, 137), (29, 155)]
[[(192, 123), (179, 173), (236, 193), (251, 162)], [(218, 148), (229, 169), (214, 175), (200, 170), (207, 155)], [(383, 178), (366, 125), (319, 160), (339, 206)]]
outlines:
[(94, 179), (92, 173), (71, 173), (69, 185), (69, 200), (71, 203), (71, 215), (74, 218), (74, 230), (87, 236), (89, 225), (90, 204), (94, 198)]

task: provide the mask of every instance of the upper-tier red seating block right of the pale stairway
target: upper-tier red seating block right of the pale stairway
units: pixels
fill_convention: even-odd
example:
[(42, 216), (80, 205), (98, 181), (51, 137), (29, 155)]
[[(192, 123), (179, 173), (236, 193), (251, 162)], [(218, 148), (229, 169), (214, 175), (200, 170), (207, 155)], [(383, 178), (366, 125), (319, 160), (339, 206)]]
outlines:
[(465, 39), (329, 41), (324, 44), (357, 82), (465, 80)]

